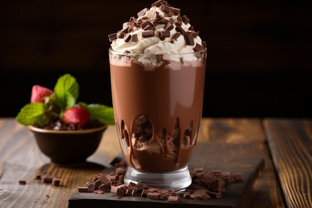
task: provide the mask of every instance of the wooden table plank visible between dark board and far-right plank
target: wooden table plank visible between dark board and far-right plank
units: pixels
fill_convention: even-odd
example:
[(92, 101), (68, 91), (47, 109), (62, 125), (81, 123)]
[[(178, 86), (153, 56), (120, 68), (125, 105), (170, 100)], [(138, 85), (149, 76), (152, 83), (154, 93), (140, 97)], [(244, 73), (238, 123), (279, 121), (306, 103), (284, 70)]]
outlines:
[(285, 207), (261, 119), (205, 118), (201, 122), (198, 141), (232, 145), (253, 144), (253, 148), (235, 152), (245, 154), (248, 158), (261, 156), (265, 160), (265, 167), (255, 180), (250, 195), (246, 195), (245, 203), (250, 208)]

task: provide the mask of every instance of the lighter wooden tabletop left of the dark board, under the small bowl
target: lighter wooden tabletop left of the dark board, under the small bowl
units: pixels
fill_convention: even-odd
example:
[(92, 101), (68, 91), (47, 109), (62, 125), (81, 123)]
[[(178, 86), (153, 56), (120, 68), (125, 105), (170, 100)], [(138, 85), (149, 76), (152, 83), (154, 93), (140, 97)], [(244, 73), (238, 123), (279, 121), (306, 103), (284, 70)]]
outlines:
[[(87, 163), (61, 167), (51, 164), (39, 151), (27, 127), (11, 118), (0, 119), (0, 208), (67, 208), (77, 187), (92, 174), (102, 172), (120, 152), (115, 136), (115, 127), (109, 126)], [(60, 177), (60, 186), (35, 180), (35, 174), (42, 172)], [(19, 185), (18, 180), (27, 184)]]

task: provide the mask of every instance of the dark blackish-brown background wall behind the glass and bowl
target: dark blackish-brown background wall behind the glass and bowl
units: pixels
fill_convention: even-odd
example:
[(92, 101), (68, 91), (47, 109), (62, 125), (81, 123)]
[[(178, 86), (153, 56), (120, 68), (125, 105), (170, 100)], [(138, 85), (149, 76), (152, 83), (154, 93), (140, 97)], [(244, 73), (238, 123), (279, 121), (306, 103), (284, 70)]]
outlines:
[[(112, 105), (108, 35), (154, 1), (10, 0), (0, 4), (0, 117), (31, 87), (71, 73), (79, 100)], [(311, 6), (281, 0), (168, 0), (207, 42), (203, 116), (312, 117)]]

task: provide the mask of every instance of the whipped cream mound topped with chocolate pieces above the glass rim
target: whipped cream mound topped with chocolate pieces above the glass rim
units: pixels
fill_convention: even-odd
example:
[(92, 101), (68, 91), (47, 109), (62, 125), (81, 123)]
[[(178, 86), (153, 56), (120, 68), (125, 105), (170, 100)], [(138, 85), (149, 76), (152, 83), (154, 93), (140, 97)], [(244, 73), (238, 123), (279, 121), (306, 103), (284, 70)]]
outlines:
[(190, 25), (186, 15), (164, 0), (131, 17), (122, 30), (110, 34), (114, 51), (135, 54), (180, 54), (200, 51), (206, 44)]

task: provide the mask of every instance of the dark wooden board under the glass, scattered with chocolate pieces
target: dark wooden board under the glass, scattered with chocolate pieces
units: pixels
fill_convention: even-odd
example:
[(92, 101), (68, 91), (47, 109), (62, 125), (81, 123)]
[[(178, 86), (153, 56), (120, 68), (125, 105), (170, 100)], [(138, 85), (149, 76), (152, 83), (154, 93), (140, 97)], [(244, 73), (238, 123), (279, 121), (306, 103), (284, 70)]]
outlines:
[[(226, 185), (226, 191), (222, 198), (209, 200), (192, 200), (180, 198), (178, 203), (169, 203), (165, 200), (151, 200), (142, 197), (118, 197), (111, 193), (96, 195), (94, 193), (73, 193), (68, 200), (69, 208), (98, 208), (100, 206), (110, 208), (244, 208), (247, 207), (245, 200), (252, 190), (252, 184), (257, 178), (259, 171), (264, 167), (263, 158), (254, 157), (250, 151), (257, 149), (254, 144), (220, 144), (198, 143), (189, 162), (189, 169), (203, 167), (205, 171), (221, 170), (225, 172), (241, 173), (243, 180)], [(104, 170), (110, 173), (111, 168)], [(91, 178), (91, 176), (90, 176)]]

